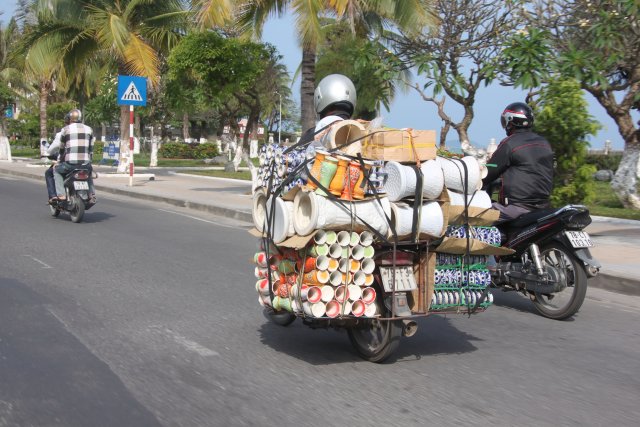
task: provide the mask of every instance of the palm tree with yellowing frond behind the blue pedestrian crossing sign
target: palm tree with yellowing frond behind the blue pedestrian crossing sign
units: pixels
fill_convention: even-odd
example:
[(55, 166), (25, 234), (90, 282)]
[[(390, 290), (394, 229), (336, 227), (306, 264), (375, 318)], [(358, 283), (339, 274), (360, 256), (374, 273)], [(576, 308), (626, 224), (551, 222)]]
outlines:
[[(57, 60), (67, 84), (106, 59), (118, 74), (145, 76), (153, 88), (160, 79), (160, 56), (179, 40), (185, 18), (180, 0), (41, 1), (28, 58), (42, 64)], [(126, 106), (120, 117), (122, 156), (128, 153)]]

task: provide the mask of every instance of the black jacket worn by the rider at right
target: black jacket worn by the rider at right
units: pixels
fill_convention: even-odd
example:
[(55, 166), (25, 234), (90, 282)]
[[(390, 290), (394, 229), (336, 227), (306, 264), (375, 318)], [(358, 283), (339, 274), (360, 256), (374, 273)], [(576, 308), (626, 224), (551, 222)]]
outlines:
[(553, 151), (530, 129), (516, 129), (500, 142), (488, 164), (484, 188), (502, 177), (499, 202), (528, 209), (549, 207), (553, 190)]

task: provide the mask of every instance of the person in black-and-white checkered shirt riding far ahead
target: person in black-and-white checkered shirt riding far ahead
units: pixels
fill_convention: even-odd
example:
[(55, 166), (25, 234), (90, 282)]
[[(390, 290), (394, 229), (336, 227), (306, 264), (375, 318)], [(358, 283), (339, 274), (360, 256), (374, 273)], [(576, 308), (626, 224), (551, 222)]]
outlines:
[(60, 162), (54, 169), (56, 193), (58, 199), (65, 200), (64, 177), (74, 169), (89, 172), (89, 198), (95, 203), (91, 155), (93, 154), (93, 130), (82, 122), (82, 112), (69, 111), (69, 124), (62, 128), (60, 136)]

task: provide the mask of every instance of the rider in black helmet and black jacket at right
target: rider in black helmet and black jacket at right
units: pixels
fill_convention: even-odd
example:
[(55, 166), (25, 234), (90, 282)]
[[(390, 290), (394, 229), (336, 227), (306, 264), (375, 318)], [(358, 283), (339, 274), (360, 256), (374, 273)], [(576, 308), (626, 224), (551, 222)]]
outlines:
[(517, 218), (535, 209), (550, 207), (553, 189), (553, 151), (546, 139), (531, 130), (533, 111), (523, 102), (507, 105), (500, 116), (507, 137), (488, 161), (484, 188), (498, 178), (502, 185), (498, 202), (500, 221)]

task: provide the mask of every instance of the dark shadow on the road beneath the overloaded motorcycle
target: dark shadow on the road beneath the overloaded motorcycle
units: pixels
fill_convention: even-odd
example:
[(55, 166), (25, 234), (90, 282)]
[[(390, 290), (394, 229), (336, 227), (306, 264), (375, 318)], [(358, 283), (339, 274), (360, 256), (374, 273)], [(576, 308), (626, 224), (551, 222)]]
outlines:
[[(411, 361), (437, 354), (475, 351), (472, 341), (479, 338), (458, 330), (451, 319), (439, 315), (419, 319), (416, 335), (401, 338), (398, 350), (389, 361)], [(475, 317), (470, 319), (475, 320)], [(300, 319), (283, 327), (265, 319), (259, 333), (263, 344), (311, 365), (364, 362), (351, 346), (345, 329), (314, 330), (303, 325)]]

